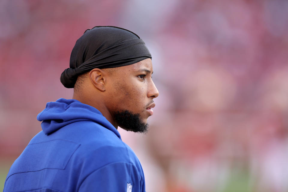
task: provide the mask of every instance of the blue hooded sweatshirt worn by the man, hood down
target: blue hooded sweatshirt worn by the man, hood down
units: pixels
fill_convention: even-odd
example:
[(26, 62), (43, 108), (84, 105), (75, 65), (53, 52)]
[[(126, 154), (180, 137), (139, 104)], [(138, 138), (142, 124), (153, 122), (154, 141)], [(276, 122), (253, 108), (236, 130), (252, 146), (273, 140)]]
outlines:
[(137, 156), (97, 109), (61, 98), (37, 119), (43, 131), (15, 160), (3, 191), (145, 191)]

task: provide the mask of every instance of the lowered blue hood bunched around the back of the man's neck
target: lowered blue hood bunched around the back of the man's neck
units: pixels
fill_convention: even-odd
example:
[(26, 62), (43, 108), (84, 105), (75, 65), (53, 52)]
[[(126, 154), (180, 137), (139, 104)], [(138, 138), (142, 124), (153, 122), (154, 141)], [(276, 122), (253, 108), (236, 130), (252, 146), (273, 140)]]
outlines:
[(46, 104), (46, 108), (38, 114), (38, 121), (45, 134), (50, 134), (65, 125), (78, 121), (93, 121), (113, 131), (121, 139), (117, 129), (98, 111), (90, 105), (82, 104), (75, 99), (58, 99)]

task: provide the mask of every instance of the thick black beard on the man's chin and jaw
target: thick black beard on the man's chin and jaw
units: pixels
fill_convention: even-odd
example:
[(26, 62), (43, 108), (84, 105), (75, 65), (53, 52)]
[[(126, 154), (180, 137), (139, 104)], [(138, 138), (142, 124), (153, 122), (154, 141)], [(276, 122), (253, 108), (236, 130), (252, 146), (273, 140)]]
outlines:
[(119, 127), (125, 129), (126, 131), (133, 131), (135, 133), (146, 134), (148, 132), (148, 123), (144, 123), (140, 118), (139, 113), (132, 113), (128, 110), (117, 111), (114, 113), (114, 120)]

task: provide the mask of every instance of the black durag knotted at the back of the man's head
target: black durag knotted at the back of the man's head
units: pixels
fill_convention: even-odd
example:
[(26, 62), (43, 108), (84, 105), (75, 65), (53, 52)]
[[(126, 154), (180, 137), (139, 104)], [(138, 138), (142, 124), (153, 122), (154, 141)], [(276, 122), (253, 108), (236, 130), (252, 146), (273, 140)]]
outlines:
[(87, 29), (76, 41), (70, 56), (70, 68), (63, 71), (61, 83), (73, 88), (77, 77), (94, 68), (130, 65), (152, 58), (138, 35), (115, 26), (96, 26)]

